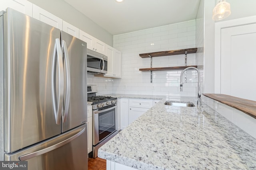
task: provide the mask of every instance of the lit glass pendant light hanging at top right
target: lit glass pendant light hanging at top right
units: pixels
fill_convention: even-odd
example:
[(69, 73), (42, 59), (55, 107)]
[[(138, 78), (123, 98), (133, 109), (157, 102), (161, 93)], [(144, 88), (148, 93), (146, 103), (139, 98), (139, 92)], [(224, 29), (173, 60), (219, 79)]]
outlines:
[(212, 20), (222, 20), (230, 16), (230, 3), (226, 0), (218, 0), (218, 4), (213, 8)]

